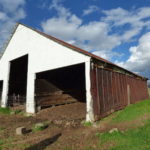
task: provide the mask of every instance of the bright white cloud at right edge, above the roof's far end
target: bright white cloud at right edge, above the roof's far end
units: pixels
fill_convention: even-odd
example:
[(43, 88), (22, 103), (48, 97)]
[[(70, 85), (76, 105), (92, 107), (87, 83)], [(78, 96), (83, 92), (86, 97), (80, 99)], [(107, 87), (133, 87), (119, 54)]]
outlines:
[(130, 57), (125, 62), (116, 63), (134, 72), (150, 76), (150, 32), (139, 39), (137, 46), (130, 47)]

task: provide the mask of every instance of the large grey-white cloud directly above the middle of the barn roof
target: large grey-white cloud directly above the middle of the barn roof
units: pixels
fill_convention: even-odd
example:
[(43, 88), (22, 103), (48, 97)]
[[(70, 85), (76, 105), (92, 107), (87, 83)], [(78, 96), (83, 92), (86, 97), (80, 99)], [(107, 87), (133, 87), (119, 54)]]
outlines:
[(55, 9), (57, 14), (41, 23), (44, 32), (88, 51), (103, 51), (104, 55), (120, 44), (117, 35), (108, 34), (109, 26), (105, 22), (92, 21), (83, 24), (81, 18), (71, 13), (57, 0), (52, 2), (50, 9)]

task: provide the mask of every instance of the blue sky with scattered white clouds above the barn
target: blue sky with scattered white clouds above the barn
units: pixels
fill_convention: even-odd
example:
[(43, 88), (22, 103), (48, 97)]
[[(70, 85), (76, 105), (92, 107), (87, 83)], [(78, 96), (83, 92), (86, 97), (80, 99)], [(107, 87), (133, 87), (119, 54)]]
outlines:
[(17, 22), (150, 78), (150, 0), (0, 0), (0, 52)]

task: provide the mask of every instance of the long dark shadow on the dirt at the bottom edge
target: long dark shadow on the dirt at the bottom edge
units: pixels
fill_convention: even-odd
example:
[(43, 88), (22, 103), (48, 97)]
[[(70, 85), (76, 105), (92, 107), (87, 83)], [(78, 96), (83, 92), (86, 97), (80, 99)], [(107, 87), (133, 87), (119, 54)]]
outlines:
[(61, 133), (56, 134), (55, 136), (47, 138), (41, 141), (40, 143), (37, 143), (35, 145), (32, 145), (29, 148), (26, 148), (25, 150), (44, 150), (47, 146), (56, 142), (60, 136), (61, 136)]

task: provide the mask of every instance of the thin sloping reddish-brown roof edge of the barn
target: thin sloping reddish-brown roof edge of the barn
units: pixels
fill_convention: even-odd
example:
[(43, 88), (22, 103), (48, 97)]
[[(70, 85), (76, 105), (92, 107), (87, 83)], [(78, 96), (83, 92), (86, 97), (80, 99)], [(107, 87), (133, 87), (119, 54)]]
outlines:
[[(24, 24), (22, 24), (22, 23), (17, 23), (17, 24), (16, 24), (16, 27), (15, 27), (15, 29), (14, 29), (13, 34), (15, 33), (15, 31), (16, 31), (16, 29), (17, 29), (17, 27), (18, 27), (19, 25), (23, 25), (23, 26), (25, 26), (25, 27), (27, 27), (27, 28), (29, 28), (29, 29), (31, 29), (31, 30), (33, 30), (33, 31), (35, 31), (35, 32), (37, 32), (37, 33), (39, 33), (40, 35), (42, 35), (42, 36), (44, 36), (44, 37), (46, 37), (46, 38), (48, 38), (48, 39), (50, 39), (50, 40), (52, 40), (52, 41), (55, 41), (55, 42), (57, 42), (57, 43), (59, 43), (59, 44), (65, 46), (65, 47), (68, 47), (68, 48), (70, 48), (70, 49), (72, 49), (72, 50), (75, 50), (75, 51), (77, 51), (77, 52), (79, 52), (79, 53), (82, 53), (82, 54), (84, 54), (84, 55), (90, 56), (90, 57), (92, 57), (92, 58), (94, 58), (94, 59), (96, 59), (96, 60), (99, 60), (99, 61), (101, 61), (101, 62), (104, 62), (104, 63), (106, 63), (106, 64), (112, 65), (112, 66), (114, 66), (114, 67), (116, 67), (116, 68), (118, 68), (118, 69), (121, 69), (121, 70), (127, 72), (128, 74), (134, 75), (135, 77), (140, 77), (140, 78), (142, 78), (142, 79), (147, 80), (147, 78), (145, 78), (145, 77), (143, 77), (143, 76), (140, 76), (140, 75), (138, 75), (138, 74), (136, 74), (136, 73), (133, 73), (133, 72), (127, 70), (127, 69), (124, 69), (124, 68), (122, 68), (122, 67), (120, 67), (120, 66), (118, 66), (118, 65), (116, 65), (116, 64), (114, 64), (114, 63), (112, 63), (112, 62), (110, 62), (110, 61), (108, 61), (108, 60), (106, 60), (106, 59), (104, 59), (104, 58), (101, 58), (101, 57), (99, 57), (99, 56), (97, 56), (97, 55), (94, 55), (94, 54), (92, 54), (92, 53), (90, 53), (90, 52), (88, 52), (88, 51), (86, 51), (86, 50), (83, 50), (83, 49), (81, 49), (81, 48), (79, 48), (79, 47), (76, 47), (76, 46), (74, 46), (74, 45), (72, 45), (72, 44), (69, 44), (69, 43), (67, 43), (67, 42), (65, 42), (65, 41), (63, 41), (63, 40), (60, 40), (60, 39), (58, 39), (58, 38), (56, 38), (56, 37), (54, 37), (54, 36), (48, 35), (48, 34), (46, 34), (46, 33), (44, 33), (44, 32), (41, 32), (41, 31), (39, 31), (39, 30), (36, 30), (36, 29), (34, 29), (34, 28), (32, 28), (32, 27), (29, 27), (29, 26), (27, 26), (27, 25), (24, 25)], [(13, 36), (13, 34), (12, 34), (12, 36)], [(8, 43), (9, 43), (9, 42), (8, 42)]]

